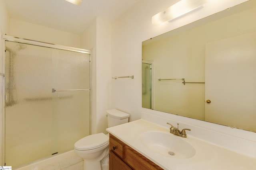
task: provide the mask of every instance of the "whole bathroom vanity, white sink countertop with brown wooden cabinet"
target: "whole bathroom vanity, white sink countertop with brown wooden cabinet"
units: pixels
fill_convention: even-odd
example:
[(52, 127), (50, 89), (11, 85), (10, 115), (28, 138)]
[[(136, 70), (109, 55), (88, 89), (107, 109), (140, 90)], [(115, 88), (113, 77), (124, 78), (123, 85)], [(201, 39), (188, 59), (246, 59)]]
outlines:
[[(175, 125), (176, 122), (161, 117), (153, 119), (158, 122), (140, 119), (106, 129), (110, 133), (110, 170), (256, 169), (254, 152), (246, 155), (218, 145), (215, 141), (200, 139), (198, 135), (205, 129), (189, 124), (180, 124), (181, 129), (190, 128), (191, 132), (188, 131), (186, 138), (179, 137), (171, 134), (170, 127), (166, 124), (170, 122)], [(204, 134), (208, 135), (208, 139), (216, 137), (210, 131)], [(227, 137), (219, 135), (218, 141), (228, 142)], [(229, 145), (235, 145), (231, 142)], [(246, 147), (251, 146), (254, 145), (249, 144)], [(250, 149), (255, 150), (254, 147)]]

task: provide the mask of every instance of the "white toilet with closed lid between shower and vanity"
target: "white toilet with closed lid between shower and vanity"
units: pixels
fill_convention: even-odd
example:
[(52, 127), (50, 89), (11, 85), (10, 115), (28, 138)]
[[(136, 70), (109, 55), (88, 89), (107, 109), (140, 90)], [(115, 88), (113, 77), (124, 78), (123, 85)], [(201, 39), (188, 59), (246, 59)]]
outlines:
[[(108, 127), (128, 122), (130, 115), (117, 109), (107, 110)], [(108, 157), (109, 134), (97, 133), (86, 136), (74, 145), (75, 152), (84, 160), (84, 170), (102, 170), (101, 160)]]

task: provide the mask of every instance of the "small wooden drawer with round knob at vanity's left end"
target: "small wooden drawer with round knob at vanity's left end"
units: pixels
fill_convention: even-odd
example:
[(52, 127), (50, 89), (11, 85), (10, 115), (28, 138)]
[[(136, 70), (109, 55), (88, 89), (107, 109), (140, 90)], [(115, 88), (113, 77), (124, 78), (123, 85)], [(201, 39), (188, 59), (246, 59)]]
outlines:
[(124, 158), (124, 143), (111, 134), (109, 134), (109, 150), (120, 156), (120, 158)]

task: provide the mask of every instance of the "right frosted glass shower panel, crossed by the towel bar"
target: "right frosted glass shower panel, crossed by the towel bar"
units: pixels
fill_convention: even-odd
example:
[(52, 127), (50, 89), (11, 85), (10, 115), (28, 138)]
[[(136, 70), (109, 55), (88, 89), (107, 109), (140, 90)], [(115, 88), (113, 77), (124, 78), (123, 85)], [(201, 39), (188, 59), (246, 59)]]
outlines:
[[(72, 51), (53, 51), (53, 88), (90, 88), (90, 55)], [(90, 135), (90, 91), (61, 91), (53, 95), (54, 150), (74, 149), (74, 143)]]

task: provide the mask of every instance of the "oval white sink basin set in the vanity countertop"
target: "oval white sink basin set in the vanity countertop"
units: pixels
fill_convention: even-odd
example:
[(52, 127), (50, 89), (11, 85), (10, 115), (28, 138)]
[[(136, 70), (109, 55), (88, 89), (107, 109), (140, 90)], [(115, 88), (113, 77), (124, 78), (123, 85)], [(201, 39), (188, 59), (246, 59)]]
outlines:
[(187, 159), (196, 154), (192, 145), (173, 134), (146, 132), (140, 136), (140, 141), (148, 149), (168, 158)]

